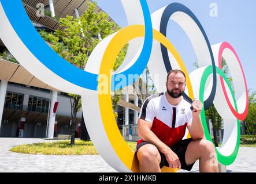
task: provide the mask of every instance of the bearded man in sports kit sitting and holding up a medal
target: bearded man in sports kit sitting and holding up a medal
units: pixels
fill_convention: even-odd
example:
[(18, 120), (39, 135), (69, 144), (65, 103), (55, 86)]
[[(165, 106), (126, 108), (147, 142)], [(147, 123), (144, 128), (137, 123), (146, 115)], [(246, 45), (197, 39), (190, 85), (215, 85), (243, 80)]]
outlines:
[[(216, 152), (212, 142), (203, 139), (200, 113), (202, 103), (188, 103), (182, 96), (185, 74), (172, 70), (166, 79), (166, 92), (144, 101), (138, 120), (140, 140), (136, 145), (139, 170), (142, 173), (161, 172), (164, 166), (190, 171), (199, 159), (200, 172), (218, 172)], [(185, 129), (190, 139), (183, 139)]]

